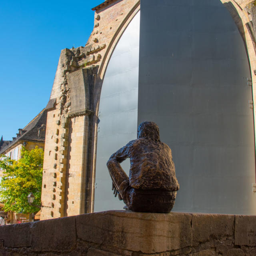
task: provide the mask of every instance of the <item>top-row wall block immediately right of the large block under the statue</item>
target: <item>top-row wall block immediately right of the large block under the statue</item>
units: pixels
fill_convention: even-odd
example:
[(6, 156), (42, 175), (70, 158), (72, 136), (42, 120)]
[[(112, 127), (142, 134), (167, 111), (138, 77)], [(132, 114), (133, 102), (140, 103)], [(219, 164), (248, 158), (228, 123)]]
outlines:
[(233, 236), (234, 215), (192, 214), (192, 245)]

